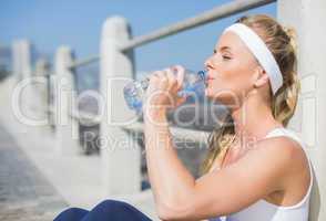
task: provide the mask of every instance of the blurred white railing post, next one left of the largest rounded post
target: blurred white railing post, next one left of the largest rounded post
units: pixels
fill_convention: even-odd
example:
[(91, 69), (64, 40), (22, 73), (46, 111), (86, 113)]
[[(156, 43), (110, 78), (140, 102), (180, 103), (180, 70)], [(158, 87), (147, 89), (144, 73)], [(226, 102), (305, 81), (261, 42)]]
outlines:
[(75, 108), (73, 71), (68, 66), (73, 54), (68, 46), (60, 46), (55, 54), (55, 74), (53, 75), (55, 141), (59, 154), (77, 154), (79, 149), (79, 123), (71, 117)]

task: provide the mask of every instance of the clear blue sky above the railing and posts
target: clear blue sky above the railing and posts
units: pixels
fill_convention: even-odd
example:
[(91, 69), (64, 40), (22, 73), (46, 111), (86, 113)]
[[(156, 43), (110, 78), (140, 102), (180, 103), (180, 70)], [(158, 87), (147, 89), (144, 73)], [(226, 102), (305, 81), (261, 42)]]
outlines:
[[(101, 28), (105, 19), (124, 17), (133, 36), (211, 10), (226, 0), (2, 0), (0, 4), (0, 44), (29, 39), (37, 51), (54, 54), (60, 45), (71, 46), (77, 59), (99, 53)], [(266, 13), (276, 17), (276, 3), (242, 14)], [(222, 32), (241, 14), (195, 28), (135, 49), (137, 71), (153, 71), (182, 64), (203, 69)], [(50, 61), (51, 63), (53, 61)]]

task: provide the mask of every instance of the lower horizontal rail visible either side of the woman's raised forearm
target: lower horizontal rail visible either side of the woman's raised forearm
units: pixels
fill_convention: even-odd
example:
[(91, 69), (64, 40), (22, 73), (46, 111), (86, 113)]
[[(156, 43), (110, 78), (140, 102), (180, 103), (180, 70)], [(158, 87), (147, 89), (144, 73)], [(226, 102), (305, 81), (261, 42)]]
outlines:
[[(144, 130), (144, 124), (143, 123), (133, 123), (131, 125), (122, 126), (123, 129), (134, 131), (134, 133), (143, 133)], [(203, 130), (195, 130), (195, 129), (186, 129), (182, 127), (170, 127), (170, 131), (173, 137), (176, 139), (181, 139), (183, 141), (192, 141), (202, 144), (205, 143), (210, 136), (208, 131)]]

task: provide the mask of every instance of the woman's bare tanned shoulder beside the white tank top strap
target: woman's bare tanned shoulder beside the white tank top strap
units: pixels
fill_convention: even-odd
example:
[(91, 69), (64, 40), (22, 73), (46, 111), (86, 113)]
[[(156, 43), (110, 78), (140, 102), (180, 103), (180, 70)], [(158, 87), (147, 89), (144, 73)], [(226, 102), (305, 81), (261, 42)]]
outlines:
[(283, 200), (288, 206), (303, 199), (312, 181), (309, 161), (303, 148), (299, 141), (286, 136), (263, 139), (257, 145), (257, 149), (274, 161), (273, 167), (278, 170), (275, 187), (285, 192)]

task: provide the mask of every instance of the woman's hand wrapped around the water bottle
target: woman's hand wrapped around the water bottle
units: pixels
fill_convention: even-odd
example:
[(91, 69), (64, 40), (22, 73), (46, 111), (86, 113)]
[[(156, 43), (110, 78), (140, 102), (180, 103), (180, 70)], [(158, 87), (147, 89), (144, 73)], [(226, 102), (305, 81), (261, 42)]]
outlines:
[(145, 114), (165, 114), (185, 102), (185, 96), (179, 96), (184, 80), (184, 67), (176, 65), (163, 71), (156, 71), (150, 76), (143, 110)]

